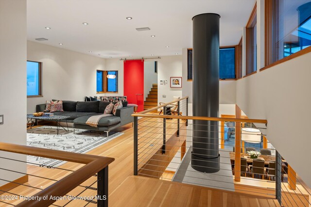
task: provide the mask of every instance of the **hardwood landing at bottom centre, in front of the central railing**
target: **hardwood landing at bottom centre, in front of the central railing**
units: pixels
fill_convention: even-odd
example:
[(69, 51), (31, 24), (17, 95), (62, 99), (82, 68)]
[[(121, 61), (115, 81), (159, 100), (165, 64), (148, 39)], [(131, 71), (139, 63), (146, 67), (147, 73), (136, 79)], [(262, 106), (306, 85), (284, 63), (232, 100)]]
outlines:
[(245, 202), (252, 204), (252, 207), (266, 207), (267, 205), (269, 207), (280, 207), (276, 199), (272, 198), (134, 175), (127, 177), (109, 195), (109, 206), (115, 207), (241, 207), (244, 206), (243, 204), (246, 204)]

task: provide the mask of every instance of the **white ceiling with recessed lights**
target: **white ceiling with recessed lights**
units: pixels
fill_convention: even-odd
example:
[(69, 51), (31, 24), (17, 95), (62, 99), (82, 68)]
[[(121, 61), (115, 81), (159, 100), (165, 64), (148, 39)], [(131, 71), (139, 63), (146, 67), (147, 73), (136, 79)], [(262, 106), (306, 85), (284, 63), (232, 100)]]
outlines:
[[(202, 13), (221, 16), (221, 46), (237, 45), (254, 5), (255, 0), (27, 0), (27, 39), (44, 37), (49, 40), (39, 43), (103, 58), (175, 55), (192, 48), (191, 18)], [(136, 31), (141, 27), (151, 30)]]

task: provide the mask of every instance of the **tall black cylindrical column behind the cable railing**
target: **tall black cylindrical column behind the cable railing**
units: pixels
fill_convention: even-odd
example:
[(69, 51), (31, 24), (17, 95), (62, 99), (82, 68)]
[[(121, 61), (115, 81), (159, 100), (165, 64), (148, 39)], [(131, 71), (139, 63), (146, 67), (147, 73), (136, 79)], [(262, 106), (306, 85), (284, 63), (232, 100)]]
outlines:
[[(218, 117), (219, 111), (218, 14), (192, 18), (193, 116)], [(220, 169), (218, 122), (193, 120), (191, 167), (200, 172)]]

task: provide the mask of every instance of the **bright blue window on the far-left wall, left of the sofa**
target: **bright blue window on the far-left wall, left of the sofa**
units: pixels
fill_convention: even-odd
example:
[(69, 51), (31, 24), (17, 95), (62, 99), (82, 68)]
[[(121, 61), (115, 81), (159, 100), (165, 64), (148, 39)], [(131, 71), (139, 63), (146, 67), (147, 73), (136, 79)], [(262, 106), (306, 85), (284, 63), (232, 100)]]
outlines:
[(42, 63), (27, 61), (27, 97), (41, 96)]

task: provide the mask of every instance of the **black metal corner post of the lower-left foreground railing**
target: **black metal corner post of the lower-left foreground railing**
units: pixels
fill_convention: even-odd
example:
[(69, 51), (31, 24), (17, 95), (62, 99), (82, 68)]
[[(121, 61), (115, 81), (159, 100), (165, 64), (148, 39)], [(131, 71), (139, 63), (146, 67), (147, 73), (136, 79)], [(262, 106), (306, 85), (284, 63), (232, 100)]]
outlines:
[(97, 207), (108, 207), (108, 166), (97, 173)]

